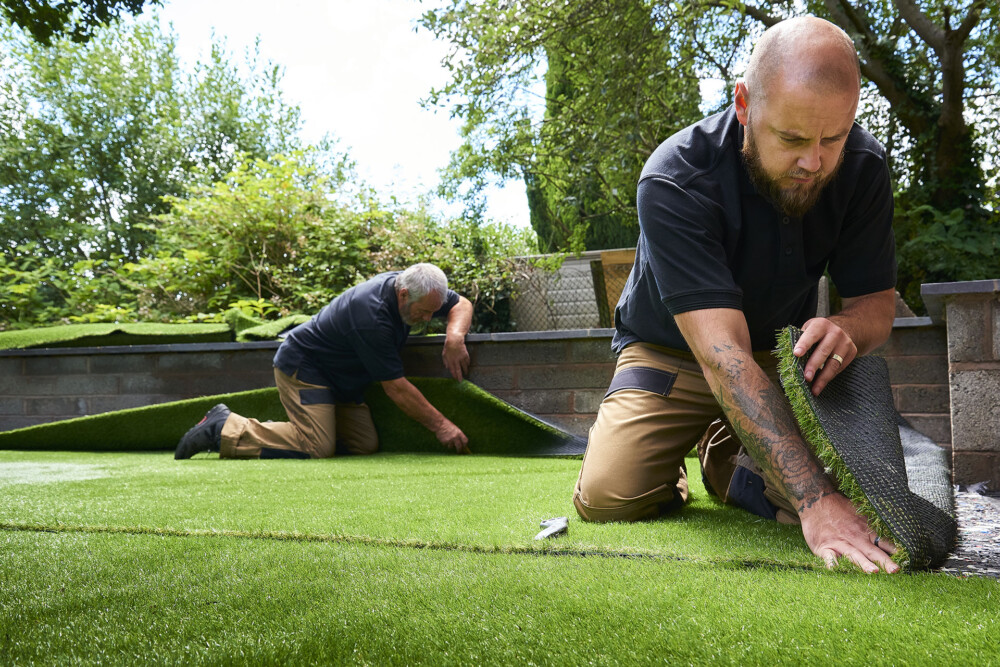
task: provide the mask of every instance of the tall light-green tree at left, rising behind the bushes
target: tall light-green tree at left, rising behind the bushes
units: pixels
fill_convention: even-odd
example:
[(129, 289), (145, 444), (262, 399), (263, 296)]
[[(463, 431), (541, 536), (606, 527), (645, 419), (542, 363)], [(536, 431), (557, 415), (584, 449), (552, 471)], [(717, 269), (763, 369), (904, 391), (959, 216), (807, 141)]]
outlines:
[(136, 260), (164, 197), (222, 178), (239, 154), (300, 147), (281, 71), (254, 57), (241, 77), (216, 45), (182, 71), (155, 23), (99, 30), (56, 48), (0, 34), (0, 249), (27, 243), (64, 266)]

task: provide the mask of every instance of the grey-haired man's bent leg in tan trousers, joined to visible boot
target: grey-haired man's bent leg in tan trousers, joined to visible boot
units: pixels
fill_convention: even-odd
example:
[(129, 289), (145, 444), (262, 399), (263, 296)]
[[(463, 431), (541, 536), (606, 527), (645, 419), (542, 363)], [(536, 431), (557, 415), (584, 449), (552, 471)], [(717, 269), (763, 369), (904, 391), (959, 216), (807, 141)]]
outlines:
[(287, 422), (260, 422), (231, 414), (222, 427), (222, 458), (255, 459), (262, 449), (300, 452), (310, 458), (333, 456), (336, 406), (330, 390), (301, 382), (277, 368), (274, 381)]

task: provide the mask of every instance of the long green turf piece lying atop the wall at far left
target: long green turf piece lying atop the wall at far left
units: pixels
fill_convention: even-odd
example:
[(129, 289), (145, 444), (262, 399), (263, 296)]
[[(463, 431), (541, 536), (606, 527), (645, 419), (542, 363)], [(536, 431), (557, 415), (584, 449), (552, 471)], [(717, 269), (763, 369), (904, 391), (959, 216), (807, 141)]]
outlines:
[(0, 332), (0, 350), (232, 341), (228, 324), (67, 324)]

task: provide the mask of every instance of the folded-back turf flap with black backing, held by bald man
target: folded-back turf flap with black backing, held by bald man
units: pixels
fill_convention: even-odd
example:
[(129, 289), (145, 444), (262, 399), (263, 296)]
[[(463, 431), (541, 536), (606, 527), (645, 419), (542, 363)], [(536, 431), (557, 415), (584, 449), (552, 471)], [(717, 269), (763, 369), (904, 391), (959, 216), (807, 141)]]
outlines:
[(896, 544), (896, 562), (908, 569), (939, 565), (955, 545), (958, 526), (909, 487), (885, 360), (857, 357), (813, 396), (803, 374), (808, 355), (792, 352), (801, 335), (795, 327), (783, 329), (775, 355), (802, 436), (872, 529)]

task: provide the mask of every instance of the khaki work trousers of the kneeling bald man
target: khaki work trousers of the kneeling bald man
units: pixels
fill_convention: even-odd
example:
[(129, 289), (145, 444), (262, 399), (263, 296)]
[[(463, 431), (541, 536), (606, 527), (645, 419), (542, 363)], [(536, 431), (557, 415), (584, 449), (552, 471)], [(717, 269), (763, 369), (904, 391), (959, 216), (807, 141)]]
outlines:
[[(777, 360), (769, 352), (754, 353), (754, 359), (777, 383)], [(653, 369), (669, 387), (661, 393), (625, 388), (604, 397), (573, 493), (584, 520), (655, 519), (680, 507), (688, 499), (684, 457), (696, 446), (707, 486), (723, 501), (733, 502), (730, 481), (738, 466), (764, 478), (722, 421), (722, 408), (697, 361), (633, 343), (619, 355), (615, 376), (630, 368)], [(776, 518), (797, 523), (794, 507), (777, 485), (763, 482)]]

